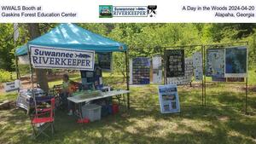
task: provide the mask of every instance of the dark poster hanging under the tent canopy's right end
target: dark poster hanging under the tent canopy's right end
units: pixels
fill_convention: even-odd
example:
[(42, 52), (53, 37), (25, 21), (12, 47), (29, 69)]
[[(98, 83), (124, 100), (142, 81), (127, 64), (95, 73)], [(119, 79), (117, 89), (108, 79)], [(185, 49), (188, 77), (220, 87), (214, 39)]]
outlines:
[(98, 66), (102, 68), (103, 72), (111, 72), (113, 69), (112, 53), (97, 53)]

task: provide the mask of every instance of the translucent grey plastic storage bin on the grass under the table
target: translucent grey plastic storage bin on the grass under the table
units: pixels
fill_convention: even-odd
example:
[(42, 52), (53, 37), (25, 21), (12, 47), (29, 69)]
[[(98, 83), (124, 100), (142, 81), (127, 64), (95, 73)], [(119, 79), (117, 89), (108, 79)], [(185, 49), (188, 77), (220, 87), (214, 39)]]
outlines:
[(102, 107), (96, 104), (88, 104), (82, 107), (83, 118), (89, 118), (90, 122), (100, 120), (102, 113)]

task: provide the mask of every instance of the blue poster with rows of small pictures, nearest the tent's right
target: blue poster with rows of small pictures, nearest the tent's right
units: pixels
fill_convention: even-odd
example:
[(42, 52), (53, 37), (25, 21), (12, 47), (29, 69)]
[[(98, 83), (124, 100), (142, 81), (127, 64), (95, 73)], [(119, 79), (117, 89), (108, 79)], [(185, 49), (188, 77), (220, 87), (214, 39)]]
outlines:
[(137, 57), (132, 59), (132, 84), (150, 84), (150, 59)]

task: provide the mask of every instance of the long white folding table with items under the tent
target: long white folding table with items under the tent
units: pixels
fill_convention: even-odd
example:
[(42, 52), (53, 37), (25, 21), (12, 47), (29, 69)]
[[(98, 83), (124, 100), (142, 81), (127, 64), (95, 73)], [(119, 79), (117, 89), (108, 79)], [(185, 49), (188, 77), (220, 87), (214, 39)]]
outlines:
[[(93, 100), (99, 100), (99, 99), (103, 99), (103, 98), (108, 98), (108, 97), (113, 97), (116, 96), (118, 98), (118, 100), (122, 97), (124, 97), (125, 100), (125, 94), (130, 93), (129, 90), (112, 90), (112, 91), (107, 91), (107, 92), (101, 92), (100, 95), (96, 95), (96, 96), (91, 96), (91, 97), (83, 97), (83, 93), (80, 93), (79, 95), (74, 95), (72, 97), (68, 97), (67, 100), (68, 101), (73, 101), (75, 103), (76, 106), (76, 111), (75, 114), (79, 117), (82, 118), (82, 103), (86, 103), (89, 101), (93, 101)], [(128, 108), (128, 102), (127, 101), (127, 108)]]

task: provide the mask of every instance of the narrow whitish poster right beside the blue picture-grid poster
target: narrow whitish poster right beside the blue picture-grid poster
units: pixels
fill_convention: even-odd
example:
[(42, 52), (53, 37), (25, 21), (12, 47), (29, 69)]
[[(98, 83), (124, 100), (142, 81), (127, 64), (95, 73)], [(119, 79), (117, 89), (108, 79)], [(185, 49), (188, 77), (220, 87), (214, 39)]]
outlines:
[(153, 65), (153, 83), (162, 83), (162, 58), (160, 55), (155, 55), (152, 59)]

